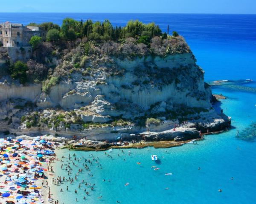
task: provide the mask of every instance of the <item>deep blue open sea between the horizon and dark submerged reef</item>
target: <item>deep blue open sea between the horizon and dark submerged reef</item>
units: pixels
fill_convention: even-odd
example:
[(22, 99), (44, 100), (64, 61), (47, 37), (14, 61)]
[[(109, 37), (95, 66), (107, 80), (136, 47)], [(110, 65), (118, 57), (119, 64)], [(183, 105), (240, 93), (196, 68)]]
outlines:
[(109, 19), (114, 26), (128, 20), (155, 22), (163, 31), (185, 37), (205, 79), (256, 80), (256, 15), (246, 14), (111, 14), (111, 13), (0, 13), (0, 22), (27, 24), (52, 21), (61, 25), (65, 17), (75, 20)]

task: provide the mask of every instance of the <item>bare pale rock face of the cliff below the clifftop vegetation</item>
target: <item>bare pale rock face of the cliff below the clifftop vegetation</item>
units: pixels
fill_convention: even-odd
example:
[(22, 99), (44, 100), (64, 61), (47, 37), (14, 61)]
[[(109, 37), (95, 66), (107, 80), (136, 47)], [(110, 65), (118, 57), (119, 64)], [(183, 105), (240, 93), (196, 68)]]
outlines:
[[(77, 49), (65, 56), (57, 68), (77, 66), (74, 58), (79, 53)], [(148, 138), (159, 140), (195, 138), (200, 128), (215, 130), (217, 125), (222, 130), (230, 123), (212, 108), (204, 71), (189, 50), (165, 56), (113, 55), (96, 65), (95, 56), (85, 62), (81, 58), (81, 70), (70, 71), (47, 91), (41, 83), (20, 85), (3, 78), (0, 130), (114, 140), (118, 135), (132, 139), (130, 134), (150, 129), (154, 133)], [(183, 120), (193, 125), (170, 130)]]

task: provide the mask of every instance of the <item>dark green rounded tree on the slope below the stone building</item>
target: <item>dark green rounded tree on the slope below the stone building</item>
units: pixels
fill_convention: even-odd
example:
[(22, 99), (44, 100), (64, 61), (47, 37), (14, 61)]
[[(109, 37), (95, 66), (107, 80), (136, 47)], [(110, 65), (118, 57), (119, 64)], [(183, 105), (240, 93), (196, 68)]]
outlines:
[(21, 84), (25, 84), (27, 81), (26, 71), (28, 67), (25, 63), (17, 61), (9, 68), (9, 72), (13, 79), (20, 79)]

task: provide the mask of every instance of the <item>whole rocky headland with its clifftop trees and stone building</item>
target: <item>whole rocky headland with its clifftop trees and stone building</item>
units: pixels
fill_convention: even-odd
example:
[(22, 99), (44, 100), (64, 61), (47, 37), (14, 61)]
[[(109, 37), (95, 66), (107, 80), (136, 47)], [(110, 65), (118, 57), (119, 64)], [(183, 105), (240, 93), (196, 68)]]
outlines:
[(212, 107), (216, 98), (189, 46), (169, 26), (163, 33), (138, 20), (122, 28), (109, 20), (66, 18), (61, 27), (6, 22), (0, 46), (6, 135), (102, 148), (201, 139), (230, 126)]

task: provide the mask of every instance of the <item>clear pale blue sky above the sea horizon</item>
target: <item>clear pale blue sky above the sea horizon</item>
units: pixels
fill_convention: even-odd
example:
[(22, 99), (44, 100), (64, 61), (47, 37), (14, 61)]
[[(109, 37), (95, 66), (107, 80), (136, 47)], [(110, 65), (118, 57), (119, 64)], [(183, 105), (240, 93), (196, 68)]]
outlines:
[(0, 12), (256, 14), (256, 0), (0, 0)]

